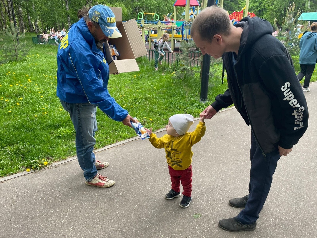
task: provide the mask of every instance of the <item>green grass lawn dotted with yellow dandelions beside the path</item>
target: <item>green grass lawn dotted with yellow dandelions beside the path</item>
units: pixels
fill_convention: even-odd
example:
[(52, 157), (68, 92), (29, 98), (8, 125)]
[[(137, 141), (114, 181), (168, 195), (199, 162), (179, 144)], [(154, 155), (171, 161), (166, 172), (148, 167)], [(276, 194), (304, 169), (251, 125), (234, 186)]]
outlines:
[[(56, 46), (32, 44), (19, 62), (0, 65), (0, 177), (26, 169), (40, 169), (44, 162), (74, 156), (75, 131), (68, 113), (56, 96)], [(173, 114), (199, 113), (227, 89), (221, 84), (222, 64), (210, 67), (208, 99), (199, 102), (199, 73), (189, 79), (178, 78), (171, 68), (159, 67), (154, 61), (137, 59), (140, 71), (111, 75), (108, 89), (115, 100), (137, 117), (147, 128), (165, 127)], [(298, 62), (294, 60), (296, 70)], [(196, 69), (199, 71), (199, 69)], [(314, 73), (312, 81), (316, 81)], [(10, 86), (12, 85), (12, 86)], [(136, 136), (134, 130), (97, 111), (98, 132), (95, 149)]]

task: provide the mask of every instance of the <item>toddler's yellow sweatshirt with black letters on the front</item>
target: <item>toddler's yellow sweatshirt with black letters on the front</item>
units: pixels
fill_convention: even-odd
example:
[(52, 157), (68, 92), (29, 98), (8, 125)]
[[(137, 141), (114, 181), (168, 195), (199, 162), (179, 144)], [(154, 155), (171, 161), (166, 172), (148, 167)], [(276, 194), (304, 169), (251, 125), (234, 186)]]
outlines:
[(191, 165), (191, 157), (193, 152), (191, 147), (201, 140), (205, 135), (205, 123), (198, 123), (193, 132), (186, 132), (182, 136), (164, 135), (157, 138), (154, 133), (150, 135), (151, 144), (158, 149), (165, 149), (166, 159), (169, 166), (175, 170), (184, 170)]

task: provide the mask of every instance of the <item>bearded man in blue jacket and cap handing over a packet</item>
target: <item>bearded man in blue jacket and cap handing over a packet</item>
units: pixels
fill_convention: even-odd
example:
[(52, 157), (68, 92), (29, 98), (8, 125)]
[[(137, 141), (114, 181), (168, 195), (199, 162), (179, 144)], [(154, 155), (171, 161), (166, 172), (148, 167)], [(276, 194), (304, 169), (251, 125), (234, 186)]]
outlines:
[(122, 35), (112, 10), (105, 5), (84, 7), (77, 16), (79, 21), (71, 26), (57, 52), (56, 94), (76, 130), (77, 159), (84, 171), (85, 183), (108, 188), (114, 181), (97, 173), (97, 169), (104, 169), (109, 163), (96, 161), (93, 152), (97, 106), (126, 126), (132, 127), (130, 121), (136, 122), (107, 89), (109, 66), (102, 52), (103, 43)]

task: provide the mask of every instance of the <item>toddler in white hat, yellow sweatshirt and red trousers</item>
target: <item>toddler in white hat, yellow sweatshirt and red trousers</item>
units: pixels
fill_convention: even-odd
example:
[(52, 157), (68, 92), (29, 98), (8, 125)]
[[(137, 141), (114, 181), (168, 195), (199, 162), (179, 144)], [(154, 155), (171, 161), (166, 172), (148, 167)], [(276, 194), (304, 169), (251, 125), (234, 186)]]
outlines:
[(169, 118), (166, 125), (166, 135), (157, 138), (152, 133), (152, 128), (147, 128), (151, 144), (158, 149), (165, 149), (168, 169), (171, 175), (172, 187), (165, 195), (168, 200), (180, 197), (180, 182), (183, 185), (183, 199), (179, 203), (182, 208), (187, 208), (191, 203), (191, 147), (199, 142), (205, 135), (206, 127), (204, 116), (200, 116), (199, 123), (193, 132), (187, 132), (194, 123), (194, 117), (190, 114), (176, 114)]

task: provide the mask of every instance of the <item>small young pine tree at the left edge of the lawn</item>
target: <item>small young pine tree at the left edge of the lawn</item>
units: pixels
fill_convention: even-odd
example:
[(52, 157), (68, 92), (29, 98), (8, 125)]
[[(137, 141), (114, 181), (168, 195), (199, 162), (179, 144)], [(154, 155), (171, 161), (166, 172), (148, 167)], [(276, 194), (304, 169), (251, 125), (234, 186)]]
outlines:
[(9, 43), (2, 43), (2, 58), (0, 63), (6, 63), (8, 61), (19, 61), (27, 55), (29, 49), (26, 47), (26, 42), (22, 42), (21, 39), (25, 38), (24, 32), (19, 34), (19, 26), (14, 26), (14, 23), (11, 21), (10, 25), (4, 29), (1, 34), (6, 38), (9, 38), (10, 41), (5, 41)]

